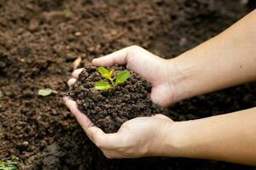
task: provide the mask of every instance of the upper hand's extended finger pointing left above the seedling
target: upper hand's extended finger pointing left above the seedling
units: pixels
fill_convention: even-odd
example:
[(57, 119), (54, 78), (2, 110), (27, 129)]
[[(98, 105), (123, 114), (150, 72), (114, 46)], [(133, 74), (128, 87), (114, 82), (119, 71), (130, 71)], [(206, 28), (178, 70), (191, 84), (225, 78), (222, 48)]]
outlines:
[(92, 65), (96, 66), (111, 66), (114, 64), (124, 65), (126, 64), (129, 50), (131, 50), (131, 47), (123, 48), (119, 51), (113, 52), (112, 54), (108, 54), (103, 57), (93, 59), (91, 63)]

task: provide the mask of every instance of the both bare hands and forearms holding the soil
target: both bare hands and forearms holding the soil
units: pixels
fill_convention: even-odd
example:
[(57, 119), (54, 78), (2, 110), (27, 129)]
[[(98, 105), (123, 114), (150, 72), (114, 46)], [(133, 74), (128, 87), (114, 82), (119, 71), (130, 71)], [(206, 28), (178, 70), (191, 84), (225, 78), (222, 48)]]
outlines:
[[(226, 31), (175, 59), (161, 59), (131, 46), (92, 60), (96, 66), (126, 64), (152, 83), (151, 98), (162, 106), (195, 95), (256, 80), (256, 10)], [(80, 70), (73, 72), (71, 85)], [(137, 117), (117, 133), (92, 126), (66, 97), (88, 137), (108, 158), (177, 156), (256, 166), (256, 108), (203, 119), (173, 122), (163, 115)]]

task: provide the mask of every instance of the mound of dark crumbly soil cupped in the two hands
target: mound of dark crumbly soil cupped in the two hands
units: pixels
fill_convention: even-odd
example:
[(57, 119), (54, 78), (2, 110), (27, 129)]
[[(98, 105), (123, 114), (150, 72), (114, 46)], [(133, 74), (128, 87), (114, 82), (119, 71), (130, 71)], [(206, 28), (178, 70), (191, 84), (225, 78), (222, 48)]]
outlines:
[[(113, 66), (113, 76), (125, 66)], [(152, 116), (163, 110), (150, 99), (150, 82), (130, 71), (131, 77), (115, 88), (96, 90), (95, 82), (107, 82), (95, 66), (86, 65), (68, 94), (77, 101), (79, 110), (106, 133), (115, 133), (126, 121), (137, 116)]]

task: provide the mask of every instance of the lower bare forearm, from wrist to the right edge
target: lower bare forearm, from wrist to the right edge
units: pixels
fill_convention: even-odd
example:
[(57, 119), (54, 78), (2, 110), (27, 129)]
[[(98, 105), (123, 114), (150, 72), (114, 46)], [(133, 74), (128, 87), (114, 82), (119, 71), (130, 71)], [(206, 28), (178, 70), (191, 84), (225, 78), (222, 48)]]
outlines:
[[(195, 121), (176, 122), (166, 128), (166, 151), (163, 155), (256, 166), (255, 120), (256, 107)], [(170, 135), (172, 131), (174, 134)]]

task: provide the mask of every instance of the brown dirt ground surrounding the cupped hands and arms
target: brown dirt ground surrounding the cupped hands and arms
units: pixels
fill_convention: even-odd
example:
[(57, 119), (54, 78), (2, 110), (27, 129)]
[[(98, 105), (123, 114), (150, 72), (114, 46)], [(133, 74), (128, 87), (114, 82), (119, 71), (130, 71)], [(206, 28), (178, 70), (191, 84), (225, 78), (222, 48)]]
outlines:
[[(137, 44), (172, 58), (231, 26), (253, 0), (0, 0), (0, 159), (20, 169), (255, 169), (183, 158), (108, 160), (62, 102), (73, 61)], [(38, 89), (58, 94), (38, 96)], [(252, 84), (184, 100), (182, 121), (256, 106)]]

